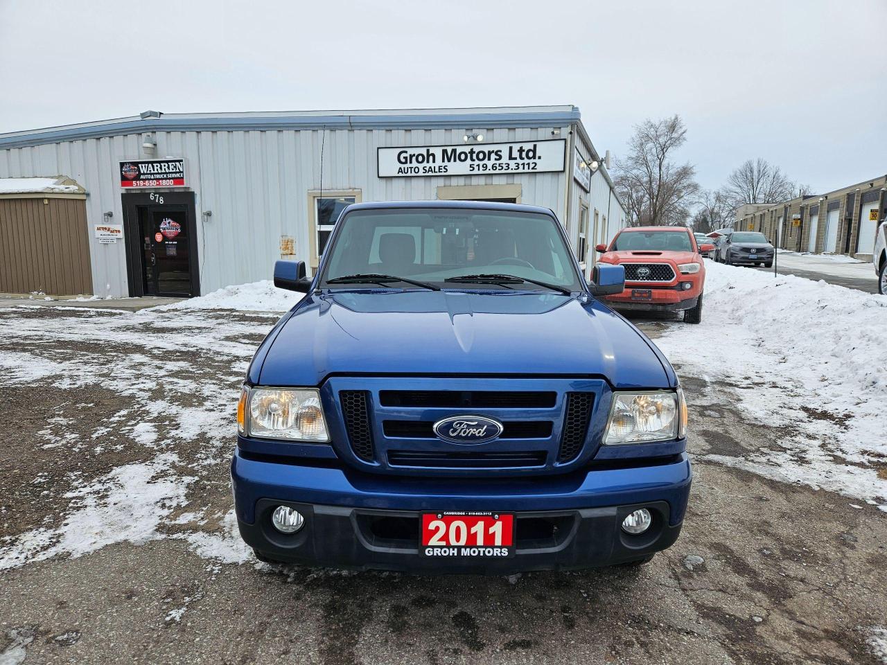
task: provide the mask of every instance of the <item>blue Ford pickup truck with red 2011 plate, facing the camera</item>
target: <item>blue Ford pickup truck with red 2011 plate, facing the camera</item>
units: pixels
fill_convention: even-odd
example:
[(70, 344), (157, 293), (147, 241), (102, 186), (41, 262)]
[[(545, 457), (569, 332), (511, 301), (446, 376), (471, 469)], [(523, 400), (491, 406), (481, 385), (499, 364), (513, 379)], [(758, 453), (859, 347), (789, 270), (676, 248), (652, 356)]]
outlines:
[(414, 573), (638, 565), (692, 473), (671, 365), (586, 283), (551, 210), (347, 207), (238, 406), (240, 534), (265, 561)]

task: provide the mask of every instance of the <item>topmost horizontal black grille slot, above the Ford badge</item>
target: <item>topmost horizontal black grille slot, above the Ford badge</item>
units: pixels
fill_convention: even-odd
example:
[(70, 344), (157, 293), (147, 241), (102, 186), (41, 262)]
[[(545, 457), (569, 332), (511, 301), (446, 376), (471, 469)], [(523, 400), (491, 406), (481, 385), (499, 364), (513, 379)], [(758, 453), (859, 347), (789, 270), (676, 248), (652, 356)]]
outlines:
[(382, 406), (475, 409), (551, 409), (553, 392), (503, 392), (493, 390), (381, 390)]

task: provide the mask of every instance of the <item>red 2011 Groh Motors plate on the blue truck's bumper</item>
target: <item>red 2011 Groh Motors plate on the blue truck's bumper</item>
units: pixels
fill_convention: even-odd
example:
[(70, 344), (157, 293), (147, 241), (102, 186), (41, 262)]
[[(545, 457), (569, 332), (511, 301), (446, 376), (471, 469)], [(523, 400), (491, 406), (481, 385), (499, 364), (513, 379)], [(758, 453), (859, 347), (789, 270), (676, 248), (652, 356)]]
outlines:
[(420, 552), (428, 557), (509, 557), (514, 553), (514, 514), (424, 512), (420, 541)]

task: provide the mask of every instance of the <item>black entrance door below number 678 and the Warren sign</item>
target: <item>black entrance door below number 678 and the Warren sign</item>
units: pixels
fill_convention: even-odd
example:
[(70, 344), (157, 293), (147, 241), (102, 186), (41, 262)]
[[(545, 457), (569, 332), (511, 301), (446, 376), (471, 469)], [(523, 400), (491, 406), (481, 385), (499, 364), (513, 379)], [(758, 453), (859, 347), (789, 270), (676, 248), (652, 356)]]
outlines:
[(200, 294), (192, 192), (123, 194), (130, 294)]

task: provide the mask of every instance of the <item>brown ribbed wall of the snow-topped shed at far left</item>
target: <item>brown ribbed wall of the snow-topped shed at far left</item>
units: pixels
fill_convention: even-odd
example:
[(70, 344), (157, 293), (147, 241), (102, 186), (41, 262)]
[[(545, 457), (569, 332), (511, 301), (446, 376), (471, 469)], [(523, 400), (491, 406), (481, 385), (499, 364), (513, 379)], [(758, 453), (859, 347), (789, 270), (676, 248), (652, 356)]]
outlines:
[(92, 293), (86, 201), (0, 199), (0, 293)]

